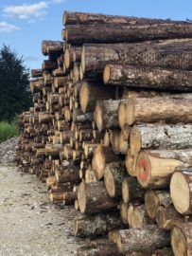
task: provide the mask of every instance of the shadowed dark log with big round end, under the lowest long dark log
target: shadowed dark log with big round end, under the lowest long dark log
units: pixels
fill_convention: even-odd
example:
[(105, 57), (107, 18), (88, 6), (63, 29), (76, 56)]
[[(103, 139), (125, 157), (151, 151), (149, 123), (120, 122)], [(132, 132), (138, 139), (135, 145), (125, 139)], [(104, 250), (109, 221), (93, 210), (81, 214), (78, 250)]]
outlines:
[(115, 93), (111, 86), (106, 88), (99, 82), (82, 82), (79, 90), (79, 103), (83, 113), (93, 112), (96, 101), (115, 99)]

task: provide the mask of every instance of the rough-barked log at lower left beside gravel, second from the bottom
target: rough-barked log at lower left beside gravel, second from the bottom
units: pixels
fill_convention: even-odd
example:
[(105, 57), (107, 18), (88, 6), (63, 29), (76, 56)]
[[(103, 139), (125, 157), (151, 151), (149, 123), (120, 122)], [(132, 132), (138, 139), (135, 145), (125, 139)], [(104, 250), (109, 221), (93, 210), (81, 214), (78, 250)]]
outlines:
[(75, 235), (94, 238), (99, 235), (106, 235), (110, 230), (118, 229), (121, 226), (119, 215), (116, 213), (83, 215), (75, 220)]

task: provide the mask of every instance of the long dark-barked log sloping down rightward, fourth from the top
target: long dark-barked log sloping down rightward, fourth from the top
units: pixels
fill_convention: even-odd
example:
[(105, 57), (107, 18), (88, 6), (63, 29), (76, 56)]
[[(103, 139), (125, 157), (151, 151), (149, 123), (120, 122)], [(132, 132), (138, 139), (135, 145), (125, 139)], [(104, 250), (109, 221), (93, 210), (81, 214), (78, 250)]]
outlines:
[(103, 72), (105, 84), (131, 88), (149, 88), (192, 92), (192, 72), (161, 67), (107, 64)]

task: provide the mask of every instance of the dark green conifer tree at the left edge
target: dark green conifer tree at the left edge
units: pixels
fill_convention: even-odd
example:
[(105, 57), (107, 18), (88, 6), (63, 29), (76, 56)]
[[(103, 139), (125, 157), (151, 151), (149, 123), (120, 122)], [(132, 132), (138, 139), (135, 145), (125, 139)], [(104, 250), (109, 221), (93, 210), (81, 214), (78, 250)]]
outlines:
[(9, 46), (0, 49), (0, 120), (14, 119), (32, 105), (29, 70)]

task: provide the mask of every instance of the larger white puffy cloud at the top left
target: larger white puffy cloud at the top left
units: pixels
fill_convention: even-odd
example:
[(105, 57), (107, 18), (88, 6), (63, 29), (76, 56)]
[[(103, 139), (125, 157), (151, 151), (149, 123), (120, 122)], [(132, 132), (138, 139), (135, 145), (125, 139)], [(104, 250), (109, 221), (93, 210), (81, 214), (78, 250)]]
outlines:
[(8, 17), (18, 18), (21, 20), (39, 19), (46, 15), (48, 4), (39, 2), (32, 5), (8, 6), (3, 9), (4, 14)]

